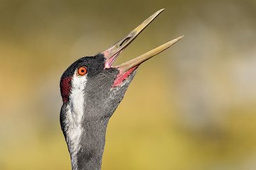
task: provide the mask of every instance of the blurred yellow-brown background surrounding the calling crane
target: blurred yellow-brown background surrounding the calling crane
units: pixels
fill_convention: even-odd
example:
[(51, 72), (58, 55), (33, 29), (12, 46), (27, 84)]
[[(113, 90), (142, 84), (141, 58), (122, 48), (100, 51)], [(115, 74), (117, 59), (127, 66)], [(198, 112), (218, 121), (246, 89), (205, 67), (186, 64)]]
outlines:
[(139, 67), (102, 169), (256, 169), (256, 1), (0, 1), (0, 169), (71, 169), (59, 80), (166, 8), (114, 64)]

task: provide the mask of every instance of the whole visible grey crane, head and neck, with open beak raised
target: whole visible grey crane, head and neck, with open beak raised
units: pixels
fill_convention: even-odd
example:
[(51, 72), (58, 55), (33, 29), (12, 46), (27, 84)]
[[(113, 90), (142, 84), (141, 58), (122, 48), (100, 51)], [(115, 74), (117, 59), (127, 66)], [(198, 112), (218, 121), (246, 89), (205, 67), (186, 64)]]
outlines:
[(154, 13), (104, 52), (80, 58), (63, 73), (60, 79), (60, 94), (63, 98), (60, 125), (73, 169), (100, 169), (107, 123), (122, 101), (137, 68), (182, 38), (112, 66), (122, 50), (163, 10)]

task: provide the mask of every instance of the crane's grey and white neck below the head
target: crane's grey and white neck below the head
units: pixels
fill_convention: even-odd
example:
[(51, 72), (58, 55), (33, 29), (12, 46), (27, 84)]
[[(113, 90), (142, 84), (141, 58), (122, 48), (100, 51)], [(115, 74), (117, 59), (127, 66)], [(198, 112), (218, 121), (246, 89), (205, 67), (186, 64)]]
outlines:
[(70, 152), (72, 169), (100, 170), (110, 115), (101, 118), (79, 117), (69, 105), (61, 108), (60, 125)]

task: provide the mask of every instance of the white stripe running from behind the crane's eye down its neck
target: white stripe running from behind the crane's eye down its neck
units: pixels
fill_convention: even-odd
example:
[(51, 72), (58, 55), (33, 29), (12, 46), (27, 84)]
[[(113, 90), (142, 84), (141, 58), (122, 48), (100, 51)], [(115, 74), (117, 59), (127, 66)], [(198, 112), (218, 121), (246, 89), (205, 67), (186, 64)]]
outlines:
[(73, 76), (72, 87), (70, 89), (70, 101), (67, 106), (67, 142), (71, 154), (73, 169), (77, 169), (78, 159), (76, 155), (80, 149), (80, 137), (82, 135), (82, 116), (85, 107), (84, 89), (87, 76), (80, 77), (76, 71)]

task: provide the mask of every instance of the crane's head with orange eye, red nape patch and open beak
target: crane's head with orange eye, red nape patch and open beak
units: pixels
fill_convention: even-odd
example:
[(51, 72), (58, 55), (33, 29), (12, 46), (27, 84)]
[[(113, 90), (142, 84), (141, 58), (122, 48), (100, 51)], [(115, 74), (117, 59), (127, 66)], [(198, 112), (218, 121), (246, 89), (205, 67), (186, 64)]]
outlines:
[[(174, 45), (183, 36), (171, 40), (154, 50), (146, 52), (133, 60), (112, 66), (117, 56), (124, 50), (137, 35), (164, 11), (156, 11), (131, 33), (124, 36), (104, 52), (91, 57), (82, 57), (68, 67), (60, 79), (60, 92), (63, 98), (63, 106), (74, 106), (75, 103), (83, 103), (93, 107), (93, 112), (86, 112), (85, 118), (101, 118), (111, 116), (124, 97), (125, 91), (131, 83), (139, 64), (154, 55)], [(72, 108), (72, 107), (71, 107)], [(90, 114), (92, 113), (92, 114)], [(100, 113), (101, 115), (97, 115)]]

